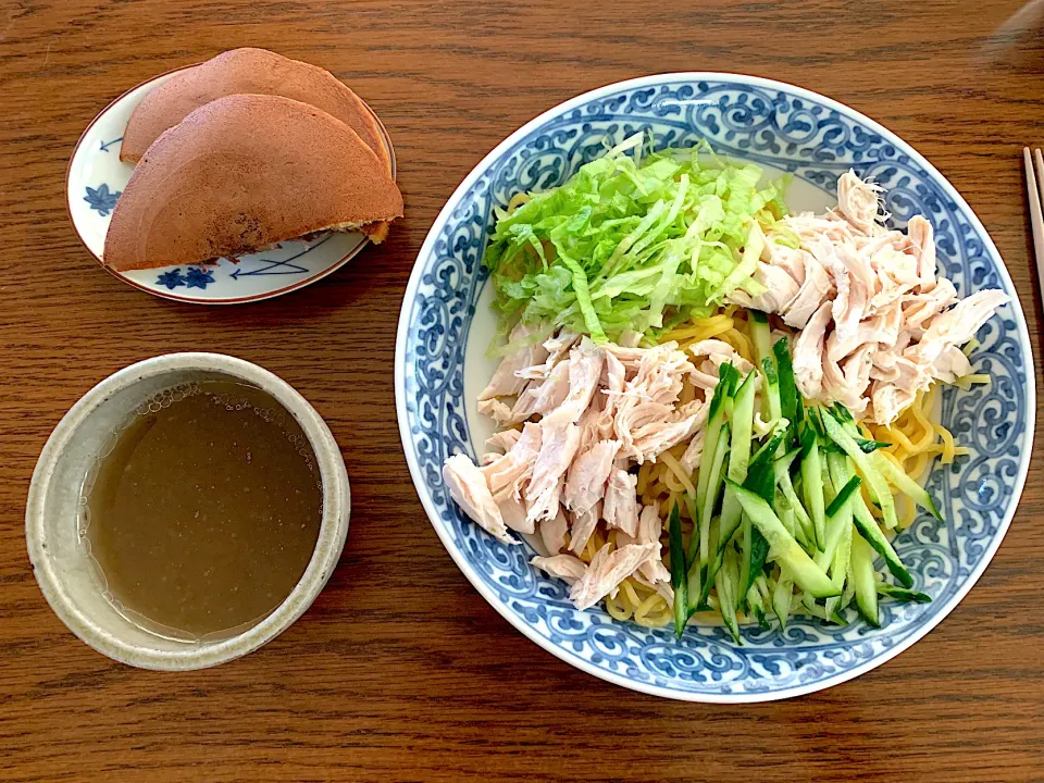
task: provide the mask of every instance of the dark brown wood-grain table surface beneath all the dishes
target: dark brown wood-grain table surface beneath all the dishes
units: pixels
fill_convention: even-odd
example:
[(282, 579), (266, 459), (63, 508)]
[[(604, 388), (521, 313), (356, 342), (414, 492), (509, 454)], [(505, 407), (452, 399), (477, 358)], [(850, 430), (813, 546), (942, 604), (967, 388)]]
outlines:
[[(161, 301), (79, 245), (66, 162), (128, 87), (246, 45), (322, 65), (373, 105), (406, 217), (302, 291)], [(857, 681), (738, 707), (656, 699), (551, 657), (471, 588), (421, 509), (391, 365), (438, 209), (545, 109), (693, 70), (809, 87), (910, 141), (982, 217), (1037, 339), (1020, 152), (1044, 144), (1041, 0), (0, 2), (0, 780), (1044, 780), (1039, 471), (993, 564), (928, 637)], [(66, 409), (125, 364), (181, 350), (297, 386), (344, 450), (352, 518), (339, 568), (289, 631), (234, 663), (160, 674), (103, 658), (51, 613), (23, 513)]]

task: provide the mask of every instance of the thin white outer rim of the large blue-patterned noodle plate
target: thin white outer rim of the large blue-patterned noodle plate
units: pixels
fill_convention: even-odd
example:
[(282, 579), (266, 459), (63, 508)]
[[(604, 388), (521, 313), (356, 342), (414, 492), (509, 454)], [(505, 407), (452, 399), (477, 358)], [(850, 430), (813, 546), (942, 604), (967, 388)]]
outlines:
[(797, 98), (805, 98), (816, 102), (821, 103), (823, 107), (836, 111), (843, 115), (852, 117), (862, 124), (865, 127), (872, 129), (873, 132), (880, 134), (882, 138), (886, 139), (893, 144), (903, 152), (909, 156), (911, 159), (916, 160), (924, 171), (935, 178), (936, 183), (940, 185), (942, 190), (953, 199), (958, 207), (965, 212), (968, 217), (970, 225), (979, 233), (983, 238), (984, 250), (990, 254), (991, 259), (998, 261), (997, 264), (997, 274), (1007, 287), (1009, 291), (1015, 293), (1015, 296), (1011, 297), (1011, 307), (1015, 311), (1017, 331), (1019, 333), (1020, 343), (1022, 346), (1022, 369), (1026, 373), (1027, 381), (1030, 382), (1027, 384), (1026, 389), (1026, 417), (1027, 417), (1027, 431), (1026, 431), (1026, 440), (1023, 443), (1032, 445), (1033, 434), (1035, 430), (1036, 421), (1036, 376), (1033, 365), (1033, 352), (1031, 349), (1029, 331), (1026, 325), (1026, 316), (1022, 312), (1022, 306), (1018, 297), (1018, 291), (1015, 287), (1015, 284), (1011, 281), (1011, 276), (1008, 274), (1008, 269), (1004, 263), (999, 251), (996, 248), (996, 245), (993, 241), (993, 238), (986, 232), (982, 222), (979, 220), (979, 216), (975, 214), (974, 210), (968, 204), (965, 198), (957, 191), (957, 189), (950, 184), (950, 182), (943, 176), (943, 174), (932, 165), (920, 152), (918, 152), (911, 145), (904, 141), (895, 133), (888, 130), (880, 123), (871, 120), (861, 112), (852, 109), (850, 107), (828, 98), (823, 95), (820, 95), (813, 90), (806, 89), (804, 87), (798, 87), (796, 85), (791, 85), (785, 82), (779, 82), (776, 79), (763, 78), (760, 76), (749, 76), (745, 74), (735, 74), (728, 72), (717, 72), (717, 71), (685, 71), (685, 72), (672, 72), (672, 73), (661, 73), (661, 74), (651, 74), (648, 76), (639, 76), (636, 78), (625, 79), (622, 82), (614, 82), (612, 84), (605, 85), (602, 87), (597, 87), (595, 89), (583, 92), (574, 98), (570, 98), (555, 107), (551, 107), (547, 111), (542, 112), (533, 120), (530, 120), (527, 123), (522, 125), (519, 129), (514, 130), (507, 138), (505, 138), (500, 144), (493, 148), (477, 164), (464, 176), (460, 185), (457, 186), (457, 189), (453, 190), (452, 195), (447, 199), (445, 206), (439, 211), (434, 223), (432, 224), (431, 229), (427, 233), (427, 236), (424, 239), (424, 244), (421, 246), (421, 250), (418, 253), (417, 260), (413, 264), (412, 273), (410, 274), (409, 283), (407, 284), (406, 293), (402, 297), (402, 307), (399, 312), (399, 325), (396, 334), (396, 344), (395, 344), (395, 401), (396, 401), (396, 415), (399, 423), (399, 437), (402, 440), (402, 449), (406, 453), (406, 461), (410, 468), (410, 475), (413, 480), (413, 486), (417, 490), (418, 497), (421, 500), (421, 505), (424, 507), (424, 511), (427, 514), (428, 521), (432, 526), (435, 529), (436, 534), (443, 543), (443, 546), (449, 552), (450, 557), (457, 563), (457, 567), (461, 570), (464, 576), (471, 582), (472, 586), (478, 592), (478, 594), (486, 599), (486, 601), (496, 609), (501, 617), (504, 617), (511, 625), (513, 625), (518, 631), (525, 635), (531, 641), (535, 642), (542, 648), (556, 656), (557, 658), (563, 660), (564, 662), (573, 666), (588, 674), (593, 674), (601, 680), (606, 680), (616, 685), (622, 687), (638, 691), (641, 693), (649, 694), (652, 696), (660, 696), (664, 698), (679, 699), (684, 701), (700, 701), (708, 704), (754, 704), (758, 701), (772, 701), (776, 699), (792, 698), (795, 696), (803, 696), (806, 694), (815, 693), (817, 691), (822, 691), (834, 685), (840, 685), (841, 683), (847, 682), (848, 680), (854, 680), (866, 672), (886, 663), (899, 652), (903, 652), (905, 649), (910, 647), (912, 644), (923, 638), (929, 632), (931, 632), (940, 622), (942, 622), (954, 608), (964, 599), (968, 592), (979, 581), (979, 577), (982, 576), (983, 572), (989, 567), (990, 562), (993, 560), (993, 556), (996, 554), (997, 549), (1000, 546), (1000, 542), (1004, 539), (1005, 534), (1008, 531), (1008, 527), (1011, 524), (1011, 520), (1015, 517), (1015, 512), (1018, 508), (1019, 500), (1022, 495), (1022, 488), (1026, 485), (1026, 477), (1029, 471), (1029, 460), (1024, 460), (1021, 465), (1020, 474), (1016, 480), (1015, 486), (1011, 494), (1011, 502), (1000, 522), (997, 525), (997, 532), (994, 535), (993, 539), (990, 542), (990, 545), (983, 552), (982, 559), (969, 575), (965, 584), (960, 589), (956, 591), (954, 596), (943, 606), (943, 608), (929, 621), (923, 623), (921, 626), (915, 629), (912, 633), (909, 634), (906, 638), (902, 639), (898, 644), (883, 651), (881, 655), (875, 658), (861, 663), (860, 666), (854, 667), (852, 669), (838, 672), (837, 674), (824, 678), (822, 680), (806, 683), (801, 685), (794, 685), (780, 691), (769, 692), (769, 693), (739, 693), (739, 694), (707, 694), (707, 693), (693, 693), (693, 692), (682, 692), (674, 691), (670, 687), (664, 687), (661, 685), (655, 685), (650, 683), (642, 683), (634, 680), (629, 680), (627, 678), (618, 674), (616, 672), (607, 671), (599, 669), (580, 656), (571, 654), (569, 650), (552, 644), (549, 639), (540, 636), (536, 631), (526, 622), (523, 621), (521, 617), (510, 611), (508, 607), (501, 601), (494, 593), (478, 579), (477, 574), (474, 573), (471, 564), (467, 561), (463, 555), (458, 551), (457, 547), (453, 545), (452, 539), (450, 538), (448, 532), (446, 532), (440, 524), (437, 523), (439, 519), (438, 511), (435, 508), (434, 501), (430, 493), (424, 489), (424, 476), (421, 473), (420, 465), (417, 462), (417, 457), (413, 452), (412, 442), (413, 438), (410, 433), (408, 411), (407, 411), (407, 399), (406, 399), (406, 357), (407, 357), (407, 341), (409, 338), (410, 332), (410, 322), (412, 319), (413, 308), (417, 302), (417, 293), (421, 284), (421, 278), (424, 272), (424, 259), (426, 259), (434, 250), (435, 243), (438, 239), (439, 232), (446, 225), (446, 222), (449, 220), (453, 210), (460, 204), (463, 196), (468, 190), (474, 185), (474, 183), (484, 174), (488, 169), (496, 163), (496, 161), (511, 147), (513, 147), (519, 140), (526, 137), (530, 133), (535, 129), (538, 129), (547, 121), (562, 115), (569, 112), (572, 109), (582, 107), (585, 103), (588, 103), (592, 100), (601, 98), (604, 96), (612, 95), (623, 90), (639, 89), (642, 87), (654, 87), (662, 84), (674, 83), (674, 82), (713, 82), (713, 80), (725, 80), (733, 82), (738, 85), (760, 87), (763, 89), (780, 90), (787, 92)]

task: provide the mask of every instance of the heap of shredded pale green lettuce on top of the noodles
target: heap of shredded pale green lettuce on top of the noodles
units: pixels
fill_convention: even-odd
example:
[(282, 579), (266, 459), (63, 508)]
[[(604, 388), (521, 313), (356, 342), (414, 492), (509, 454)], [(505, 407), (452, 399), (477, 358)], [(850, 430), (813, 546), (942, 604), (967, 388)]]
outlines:
[(521, 319), (616, 339), (708, 315), (754, 281), (763, 229), (786, 213), (782, 186), (706, 142), (645, 151), (635, 134), (563, 185), (497, 209), (484, 262), (500, 333)]

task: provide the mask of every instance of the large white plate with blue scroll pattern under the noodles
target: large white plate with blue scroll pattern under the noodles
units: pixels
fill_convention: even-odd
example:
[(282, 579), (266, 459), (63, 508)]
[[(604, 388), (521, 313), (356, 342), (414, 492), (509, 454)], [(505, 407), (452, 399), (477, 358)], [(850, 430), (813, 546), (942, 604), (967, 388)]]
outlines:
[[(942, 270), (961, 295), (1003, 288), (1012, 301), (980, 332), (973, 355), (990, 386), (943, 395), (942, 421), (971, 455), (934, 471), (929, 488), (946, 522), (922, 514), (896, 540), (927, 605), (882, 601), (882, 627), (792, 620), (743, 629), (737, 646), (720, 626), (669, 629), (577, 611), (563, 583), (529, 564), (527, 544), (505, 546), (465, 519), (440, 474), (453, 452), (475, 457), (489, 434), (475, 395), (494, 363), (490, 286), (482, 254), (493, 207), (521, 190), (564, 182), (604, 141), (651, 130), (658, 146), (709, 139), (719, 151), (790, 172), (794, 209), (835, 203), (849, 167), (887, 189), (903, 227), (913, 214), (935, 226)], [(1017, 293), (993, 241), (954, 187), (909, 145), (858, 112), (805, 89), (749, 76), (648, 76), (587, 92), (536, 117), (486, 156), (461, 183), (417, 259), (399, 320), (395, 391), (413, 481), (439, 538), (482, 596), (562, 660), (625, 687), (697, 701), (784, 698), (836, 685), (898, 655), (971, 589), (1000, 544), (1022, 492), (1034, 425), (1034, 377)]]

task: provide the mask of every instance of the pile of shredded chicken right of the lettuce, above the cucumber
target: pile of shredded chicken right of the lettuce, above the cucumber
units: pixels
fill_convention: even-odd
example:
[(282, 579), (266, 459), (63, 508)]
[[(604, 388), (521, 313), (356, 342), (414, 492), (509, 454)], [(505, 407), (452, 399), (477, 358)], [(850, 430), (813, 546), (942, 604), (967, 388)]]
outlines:
[(730, 299), (800, 330), (791, 347), (806, 398), (890, 424), (918, 391), (971, 371), (960, 346), (1008, 296), (981, 290), (958, 300), (939, 275), (932, 224), (915, 215), (907, 234), (887, 229), (879, 195), (843, 174), (836, 210), (792, 215), (768, 233), (755, 272), (768, 290)]

